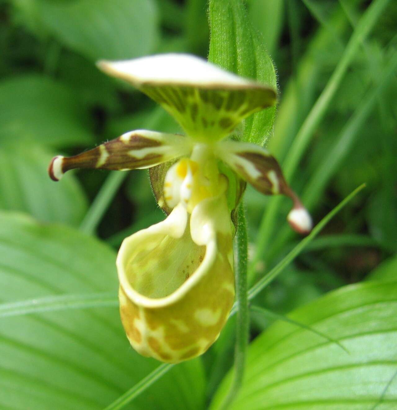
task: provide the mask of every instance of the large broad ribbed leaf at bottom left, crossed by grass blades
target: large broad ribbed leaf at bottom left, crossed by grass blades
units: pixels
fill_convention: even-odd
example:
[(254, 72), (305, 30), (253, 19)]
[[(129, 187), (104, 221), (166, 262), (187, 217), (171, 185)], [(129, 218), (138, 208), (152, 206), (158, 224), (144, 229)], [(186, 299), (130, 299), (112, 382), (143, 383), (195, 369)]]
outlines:
[[(112, 292), (115, 253), (62, 225), (0, 213), (0, 299)], [(130, 348), (117, 307), (0, 319), (0, 408), (102, 410), (159, 363)], [(129, 409), (203, 408), (196, 360), (174, 367)]]

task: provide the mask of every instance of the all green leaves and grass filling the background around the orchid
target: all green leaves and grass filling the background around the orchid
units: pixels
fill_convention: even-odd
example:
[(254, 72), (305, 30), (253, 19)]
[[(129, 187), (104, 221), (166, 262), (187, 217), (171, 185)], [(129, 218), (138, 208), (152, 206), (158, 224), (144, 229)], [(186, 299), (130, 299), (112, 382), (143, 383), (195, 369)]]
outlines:
[[(146, 171), (110, 179), (105, 171), (81, 171), (55, 184), (46, 167), (55, 154), (72, 155), (134, 128), (178, 131), (161, 108), (100, 73), (95, 61), (168, 51), (208, 57), (207, 7), (205, 0), (0, 0), (1, 409), (105, 408), (158, 365), (129, 347), (112, 299), (122, 239), (164, 217)], [(229, 61), (248, 58), (248, 43), (210, 53), (222, 66), (269, 82), (275, 77), (260, 69), (261, 50), (275, 63), (274, 128), (259, 128), (256, 117), (245, 132), (253, 130), (254, 140), (266, 141), (286, 164), (316, 222), (361, 183), (367, 189), (253, 301), (262, 311), (252, 312), (246, 378), (233, 409), (395, 408), (397, 6), (249, 0), (246, 8), (235, 27), (249, 32), (257, 65)], [(225, 41), (225, 16), (214, 10), (216, 43)], [(367, 37), (355, 31), (365, 29), (363, 15), (374, 18)], [(346, 56), (321, 121), (300, 144), (302, 124)], [(297, 152), (297, 166), (288, 168)], [(89, 207), (106, 179), (107, 211), (96, 227)], [(244, 198), (252, 284), (299, 238), (285, 223), (287, 200), (250, 188)], [(15, 310), (19, 301), (98, 292), (107, 296), (87, 310)], [(290, 319), (332, 336), (349, 353), (307, 328), (272, 325), (274, 314), (263, 308), (293, 310)], [(125, 408), (203, 409), (212, 398), (218, 408), (230, 380), (234, 326), (232, 319), (202, 358), (173, 367)]]

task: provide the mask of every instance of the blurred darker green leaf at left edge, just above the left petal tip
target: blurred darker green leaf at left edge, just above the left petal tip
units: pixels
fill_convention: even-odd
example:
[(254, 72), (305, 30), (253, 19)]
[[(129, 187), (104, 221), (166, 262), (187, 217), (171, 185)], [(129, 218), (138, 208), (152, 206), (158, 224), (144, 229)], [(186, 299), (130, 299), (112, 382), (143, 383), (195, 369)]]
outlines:
[(64, 147), (90, 144), (93, 136), (75, 93), (49, 77), (31, 74), (0, 82), (0, 143), (7, 140)]

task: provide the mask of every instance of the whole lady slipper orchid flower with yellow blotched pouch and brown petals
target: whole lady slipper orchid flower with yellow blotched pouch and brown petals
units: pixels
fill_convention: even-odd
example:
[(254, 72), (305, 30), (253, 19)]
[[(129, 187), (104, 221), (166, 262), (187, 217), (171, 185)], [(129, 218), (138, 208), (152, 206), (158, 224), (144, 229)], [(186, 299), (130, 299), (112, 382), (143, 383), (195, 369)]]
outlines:
[(55, 157), (49, 174), (57, 181), (75, 168), (124, 171), (173, 162), (162, 192), (155, 189), (159, 205), (172, 211), (124, 239), (119, 250), (120, 312), (131, 345), (142, 355), (191, 359), (214, 343), (233, 305), (230, 212), (244, 181), (262, 194), (292, 198), (292, 228), (311, 229), (276, 159), (264, 148), (228, 138), (244, 118), (274, 105), (276, 92), (191, 55), (102, 61), (98, 67), (162, 105), (186, 135), (130, 131), (79, 155)]

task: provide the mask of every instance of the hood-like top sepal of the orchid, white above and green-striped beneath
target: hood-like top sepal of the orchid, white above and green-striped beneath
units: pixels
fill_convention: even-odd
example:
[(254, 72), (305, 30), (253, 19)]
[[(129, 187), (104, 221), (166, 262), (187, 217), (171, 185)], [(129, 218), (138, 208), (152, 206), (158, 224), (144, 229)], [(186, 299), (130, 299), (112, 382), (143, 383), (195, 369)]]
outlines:
[(276, 103), (272, 87), (192, 55), (163, 54), (98, 66), (146, 93), (187, 135), (203, 142), (226, 137), (244, 118)]

